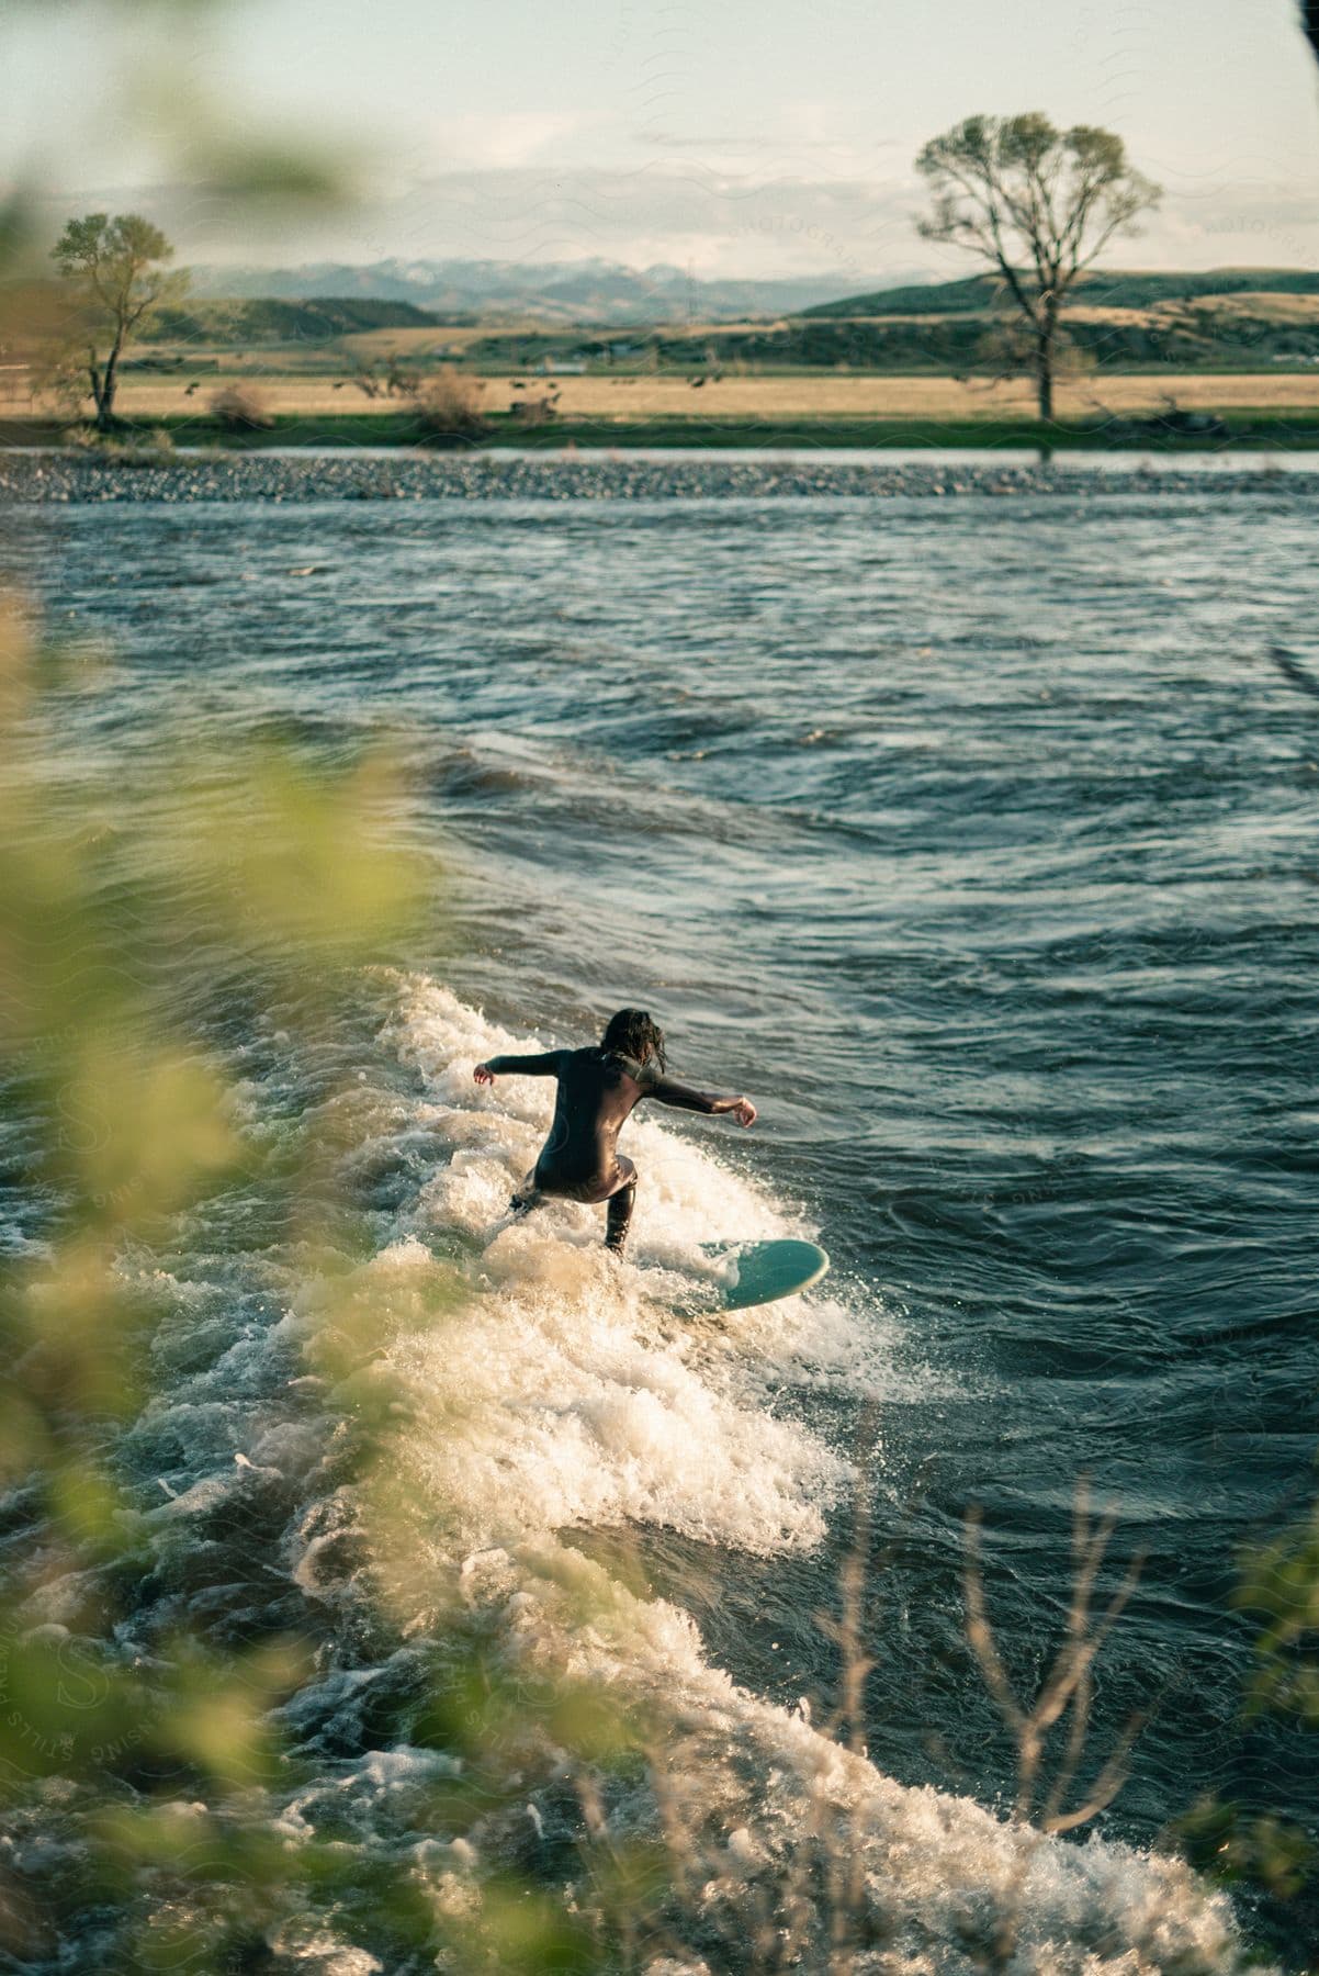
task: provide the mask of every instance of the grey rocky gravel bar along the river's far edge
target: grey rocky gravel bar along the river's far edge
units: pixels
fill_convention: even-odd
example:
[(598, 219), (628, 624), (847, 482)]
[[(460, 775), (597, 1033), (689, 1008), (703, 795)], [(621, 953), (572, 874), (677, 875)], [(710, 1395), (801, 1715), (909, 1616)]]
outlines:
[(1240, 470), (1076, 468), (926, 462), (853, 462), (806, 456), (731, 460), (719, 454), (640, 458), (622, 453), (490, 454), (199, 454), (166, 460), (0, 454), (0, 504), (34, 502), (318, 502), (318, 500), (735, 500), (958, 494), (1319, 494), (1319, 468)]

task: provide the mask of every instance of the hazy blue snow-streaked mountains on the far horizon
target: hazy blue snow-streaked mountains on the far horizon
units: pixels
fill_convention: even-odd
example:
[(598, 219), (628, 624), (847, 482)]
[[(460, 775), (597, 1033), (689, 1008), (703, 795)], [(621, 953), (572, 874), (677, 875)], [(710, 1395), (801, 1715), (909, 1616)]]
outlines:
[[(365, 267), (199, 267), (203, 296), (322, 294), (411, 302), (444, 322), (539, 320), (600, 328), (650, 322), (738, 322), (774, 318), (827, 302), (835, 275), (784, 281), (697, 281), (681, 267), (622, 267), (618, 261), (375, 261)], [(346, 306), (346, 304), (342, 304)], [(365, 326), (365, 324), (363, 324)]]

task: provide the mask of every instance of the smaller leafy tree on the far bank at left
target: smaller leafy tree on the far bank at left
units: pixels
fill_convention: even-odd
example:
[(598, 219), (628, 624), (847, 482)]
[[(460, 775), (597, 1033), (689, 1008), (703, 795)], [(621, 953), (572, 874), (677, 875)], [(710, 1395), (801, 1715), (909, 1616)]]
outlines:
[[(140, 213), (87, 213), (69, 219), (51, 259), (77, 292), (73, 340), (85, 344), (85, 373), (101, 429), (115, 423), (118, 360), (142, 318), (174, 302), (188, 287), (186, 273), (168, 273), (174, 247), (160, 227)], [(101, 358), (109, 342), (109, 354)]]

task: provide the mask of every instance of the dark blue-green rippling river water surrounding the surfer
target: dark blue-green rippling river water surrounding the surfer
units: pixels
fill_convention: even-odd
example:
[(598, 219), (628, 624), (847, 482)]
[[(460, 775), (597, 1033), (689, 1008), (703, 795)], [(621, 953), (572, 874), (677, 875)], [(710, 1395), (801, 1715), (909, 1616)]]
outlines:
[[(111, 690), (71, 715), (93, 757), (271, 719), (405, 757), (448, 895), (363, 1057), (395, 1107), (381, 1298), (425, 1267), (419, 1235), (480, 1257), (462, 1350), (413, 1363), (472, 1439), (419, 1427), (419, 1486), (460, 1504), (472, 1555), (545, 1531), (610, 1569), (630, 1531), (660, 1616), (618, 1654), (711, 1711), (742, 1697), (766, 1802), (827, 1709), (812, 1614), (863, 1458), (875, 1816), (892, 1879), (902, 1834), (928, 1852), (908, 1895), (940, 1968), (940, 1857), (966, 1885), (1001, 1869), (962, 1800), (1013, 1790), (966, 1646), (973, 1502), (1023, 1689), (1066, 1614), (1080, 1476), (1118, 1518), (1104, 1585), (1145, 1553), (1094, 1763), (1131, 1709), (1153, 1721), (1102, 1836), (1031, 1893), (1041, 1940), (1070, 1938), (1066, 1861), (1114, 1954), (1151, 1899), (1208, 1940), (1199, 1893), (1159, 1893), (1141, 1857), (1203, 1792), (1319, 1816), (1291, 1733), (1240, 1721), (1230, 1605), (1238, 1547), (1307, 1500), (1319, 1425), (1303, 480), (18, 516), (55, 622), (115, 642)], [(590, 1209), (502, 1231), (547, 1095), (482, 1095), (470, 1065), (586, 1041), (618, 1004), (760, 1122), (630, 1126), (644, 1180), (610, 1275)], [(284, 1075), (265, 1063), (257, 1109)], [(699, 1275), (703, 1241), (798, 1229), (833, 1257), (806, 1300), (689, 1334), (648, 1296), (648, 1271)], [(192, 1425), (142, 1429), (144, 1488), (184, 1496), (269, 1425), (265, 1359), (245, 1385), (225, 1352), (278, 1312), (227, 1302), (229, 1269), (190, 1288), (215, 1352), (180, 1354)], [(324, 1504), (300, 1516), (324, 1535)]]

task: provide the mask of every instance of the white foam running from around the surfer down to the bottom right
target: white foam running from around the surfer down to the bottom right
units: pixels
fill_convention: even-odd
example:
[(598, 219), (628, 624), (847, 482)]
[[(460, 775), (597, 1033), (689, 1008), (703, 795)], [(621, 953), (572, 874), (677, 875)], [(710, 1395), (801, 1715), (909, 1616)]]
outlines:
[[(804, 1713), (711, 1668), (685, 1612), (634, 1597), (555, 1539), (565, 1525), (634, 1520), (725, 1549), (814, 1545), (847, 1464), (766, 1401), (784, 1385), (891, 1393), (891, 1320), (815, 1294), (737, 1324), (673, 1322), (671, 1273), (709, 1271), (701, 1241), (798, 1233), (794, 1219), (705, 1144), (638, 1118), (630, 1265), (602, 1253), (598, 1209), (557, 1203), (504, 1225), (553, 1085), (500, 1079), (480, 1091), (472, 1067), (537, 1045), (427, 978), (401, 984), (395, 1043), (427, 1079), (427, 1122), (450, 1148), (413, 1229), (367, 1273), (413, 1409), (397, 1450), (417, 1508), (413, 1555), (428, 1551), (436, 1571), (462, 1563), (462, 1597), (482, 1614), (482, 1638), (502, 1640), (513, 1678), (579, 1678), (661, 1711), (671, 1780), (717, 1810), (709, 1885), (725, 1891), (711, 1901), (737, 1903), (740, 1887), (752, 1903), (756, 1887), (782, 1885), (810, 1834), (833, 1822), (865, 1863), (865, 1905), (894, 1954), (912, 1958), (904, 1968), (979, 1966), (975, 1935), (989, 1940), (1003, 1917), (1021, 1976), (1118, 1976), (1137, 1958), (1232, 1966), (1230, 1905), (1187, 1867), (1104, 1840), (1047, 1840), (968, 1800), (896, 1784)], [(427, 1275), (440, 1267), (417, 1233), (480, 1245), (472, 1294), (438, 1330), (409, 1318), (428, 1308)], [(425, 1597), (409, 1591), (425, 1630)]]

